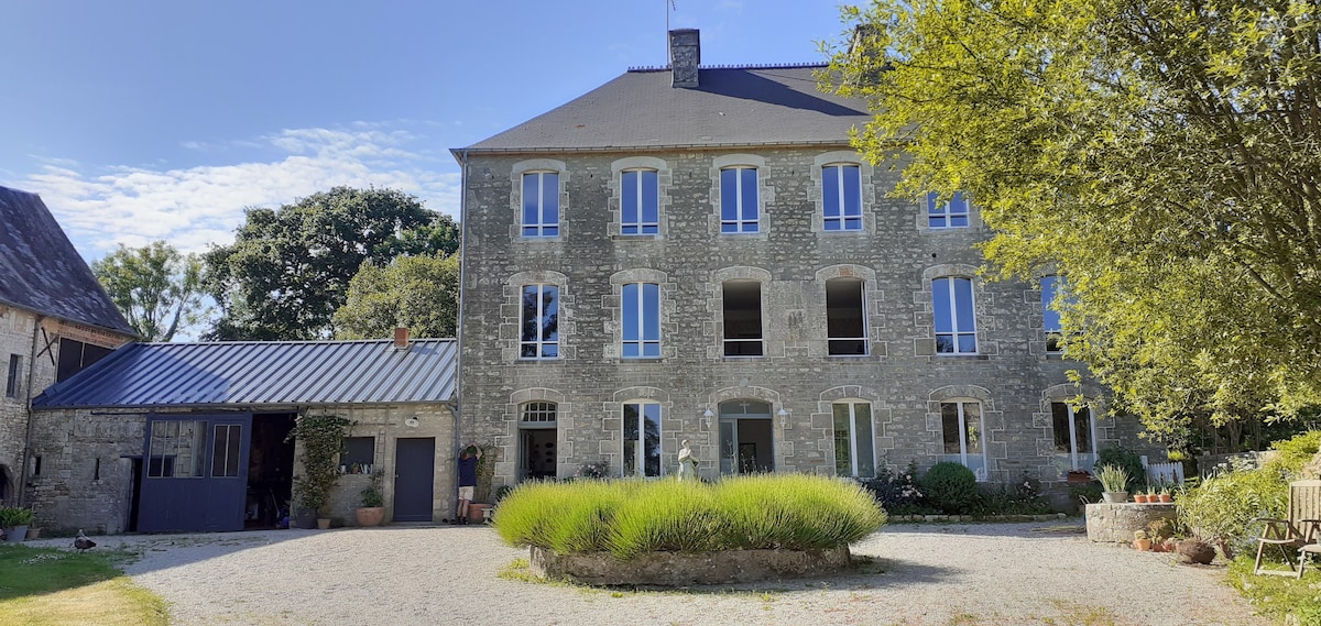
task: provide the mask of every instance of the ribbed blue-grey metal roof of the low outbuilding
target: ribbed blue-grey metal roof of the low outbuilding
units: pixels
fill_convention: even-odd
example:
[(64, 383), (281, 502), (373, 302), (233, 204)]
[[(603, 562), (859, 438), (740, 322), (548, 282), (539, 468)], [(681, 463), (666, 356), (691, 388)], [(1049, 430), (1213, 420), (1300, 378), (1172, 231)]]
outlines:
[(439, 403), (454, 339), (129, 343), (37, 396), (38, 408)]

